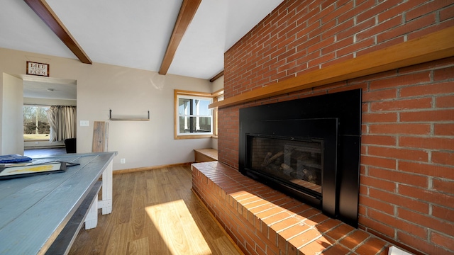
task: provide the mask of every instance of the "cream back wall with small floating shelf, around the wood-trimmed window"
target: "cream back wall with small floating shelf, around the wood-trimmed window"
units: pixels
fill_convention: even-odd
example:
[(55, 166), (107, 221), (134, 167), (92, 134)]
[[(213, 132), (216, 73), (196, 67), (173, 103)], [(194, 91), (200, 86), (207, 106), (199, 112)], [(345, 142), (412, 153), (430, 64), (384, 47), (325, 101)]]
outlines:
[[(164, 77), (140, 69), (82, 64), (79, 60), (2, 48), (0, 74), (25, 74), (27, 60), (50, 64), (50, 77), (77, 80), (77, 123), (89, 120), (89, 127), (77, 127), (77, 152), (92, 151), (94, 121), (109, 122), (109, 151), (118, 152), (114, 170), (193, 162), (193, 149), (211, 146), (210, 138), (173, 137), (174, 89), (211, 92), (207, 80), (171, 74)], [(109, 109), (113, 117), (146, 117), (150, 111), (151, 120), (111, 121)], [(120, 164), (123, 158), (126, 164)]]

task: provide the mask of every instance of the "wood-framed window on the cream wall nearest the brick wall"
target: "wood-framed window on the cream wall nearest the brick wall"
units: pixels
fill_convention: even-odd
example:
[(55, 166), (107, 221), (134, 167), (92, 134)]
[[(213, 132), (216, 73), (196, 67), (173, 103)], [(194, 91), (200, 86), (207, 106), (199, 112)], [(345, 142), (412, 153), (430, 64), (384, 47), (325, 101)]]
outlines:
[(175, 139), (213, 135), (213, 103), (210, 93), (175, 90)]

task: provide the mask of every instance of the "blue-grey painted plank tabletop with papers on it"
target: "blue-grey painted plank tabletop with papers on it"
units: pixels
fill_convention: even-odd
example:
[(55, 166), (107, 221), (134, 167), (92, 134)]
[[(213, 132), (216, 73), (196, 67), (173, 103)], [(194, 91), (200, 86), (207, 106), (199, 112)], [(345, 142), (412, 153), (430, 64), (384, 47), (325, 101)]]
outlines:
[(33, 159), (80, 165), (57, 174), (0, 180), (0, 254), (44, 254), (116, 152)]

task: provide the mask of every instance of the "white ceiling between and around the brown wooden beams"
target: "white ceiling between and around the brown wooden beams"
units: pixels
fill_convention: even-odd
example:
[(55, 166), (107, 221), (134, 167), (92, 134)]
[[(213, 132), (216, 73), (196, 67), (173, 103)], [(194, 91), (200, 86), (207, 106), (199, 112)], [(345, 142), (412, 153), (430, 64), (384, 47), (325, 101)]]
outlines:
[[(155, 72), (182, 4), (182, 0), (46, 1), (92, 62)], [(211, 79), (223, 71), (223, 53), (281, 2), (202, 0), (167, 74)], [(77, 59), (24, 1), (1, 0), (0, 5), (0, 47)]]

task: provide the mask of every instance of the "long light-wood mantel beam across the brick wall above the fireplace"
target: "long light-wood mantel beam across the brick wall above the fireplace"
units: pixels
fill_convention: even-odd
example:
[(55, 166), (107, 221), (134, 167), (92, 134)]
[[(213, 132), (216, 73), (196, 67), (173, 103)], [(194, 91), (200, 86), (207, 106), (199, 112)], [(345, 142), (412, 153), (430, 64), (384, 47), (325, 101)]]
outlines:
[(267, 84), (267, 86), (262, 88), (225, 98), (223, 101), (211, 103), (209, 108), (236, 106), (240, 103), (311, 89), (338, 81), (453, 56), (454, 26), (424, 35), (421, 38), (370, 52), (345, 62), (332, 64), (298, 77), (279, 81), (275, 84)]

